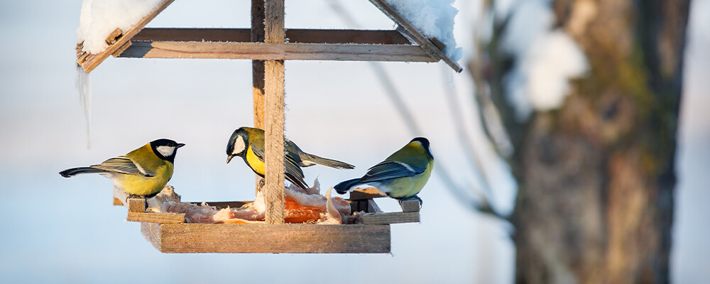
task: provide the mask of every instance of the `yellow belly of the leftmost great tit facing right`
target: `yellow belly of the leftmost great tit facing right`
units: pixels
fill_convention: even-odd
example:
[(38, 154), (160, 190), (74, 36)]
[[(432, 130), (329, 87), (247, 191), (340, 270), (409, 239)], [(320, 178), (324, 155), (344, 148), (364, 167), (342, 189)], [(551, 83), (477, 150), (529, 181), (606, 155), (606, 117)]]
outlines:
[(163, 187), (173, 177), (173, 164), (165, 164), (155, 171), (153, 177), (115, 174), (111, 180), (114, 181), (114, 185), (129, 195), (154, 195), (163, 190)]

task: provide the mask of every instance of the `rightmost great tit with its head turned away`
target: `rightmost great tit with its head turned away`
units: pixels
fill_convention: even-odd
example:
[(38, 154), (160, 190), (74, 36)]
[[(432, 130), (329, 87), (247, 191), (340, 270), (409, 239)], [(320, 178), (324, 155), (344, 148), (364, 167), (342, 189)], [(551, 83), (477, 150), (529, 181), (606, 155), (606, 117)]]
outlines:
[(370, 168), (362, 178), (346, 180), (335, 185), (335, 191), (344, 194), (356, 188), (375, 187), (378, 191), (397, 200), (415, 198), (434, 168), (434, 156), (429, 140), (423, 137), (412, 139), (399, 151)]

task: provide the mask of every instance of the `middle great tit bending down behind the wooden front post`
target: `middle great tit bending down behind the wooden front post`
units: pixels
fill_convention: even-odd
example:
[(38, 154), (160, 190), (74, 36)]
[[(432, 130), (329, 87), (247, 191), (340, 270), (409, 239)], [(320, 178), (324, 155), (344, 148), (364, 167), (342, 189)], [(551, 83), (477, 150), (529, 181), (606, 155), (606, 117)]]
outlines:
[[(337, 169), (355, 168), (354, 165), (348, 163), (305, 153), (288, 139), (284, 139), (284, 148), (286, 153), (284, 155), (283, 168), (286, 180), (303, 189), (307, 189), (308, 185), (303, 180), (303, 171), (300, 167), (305, 168), (311, 165), (324, 165)], [(229, 163), (234, 156), (244, 158), (246, 165), (249, 165), (249, 168), (251, 168), (254, 173), (263, 178), (266, 168), (264, 165), (263, 129), (245, 126), (231, 133), (229, 142), (226, 144), (226, 163)]]

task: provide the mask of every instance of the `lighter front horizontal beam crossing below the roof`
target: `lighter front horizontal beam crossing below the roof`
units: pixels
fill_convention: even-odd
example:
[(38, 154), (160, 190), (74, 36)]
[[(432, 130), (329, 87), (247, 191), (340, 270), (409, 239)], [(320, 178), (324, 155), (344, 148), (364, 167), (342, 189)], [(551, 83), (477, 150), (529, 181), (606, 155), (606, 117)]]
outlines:
[(133, 41), (121, 58), (436, 62), (417, 45)]

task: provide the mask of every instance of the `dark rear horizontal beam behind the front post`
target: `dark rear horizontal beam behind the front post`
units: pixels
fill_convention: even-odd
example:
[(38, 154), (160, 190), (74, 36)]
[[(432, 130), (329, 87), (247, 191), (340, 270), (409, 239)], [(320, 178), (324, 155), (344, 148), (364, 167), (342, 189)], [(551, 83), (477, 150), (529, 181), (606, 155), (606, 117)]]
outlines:
[[(315, 30), (291, 28), (286, 30), (289, 43), (359, 43), (410, 45), (398, 31)], [(210, 41), (246, 43), (251, 40), (249, 28), (143, 28), (133, 36), (134, 41)]]

